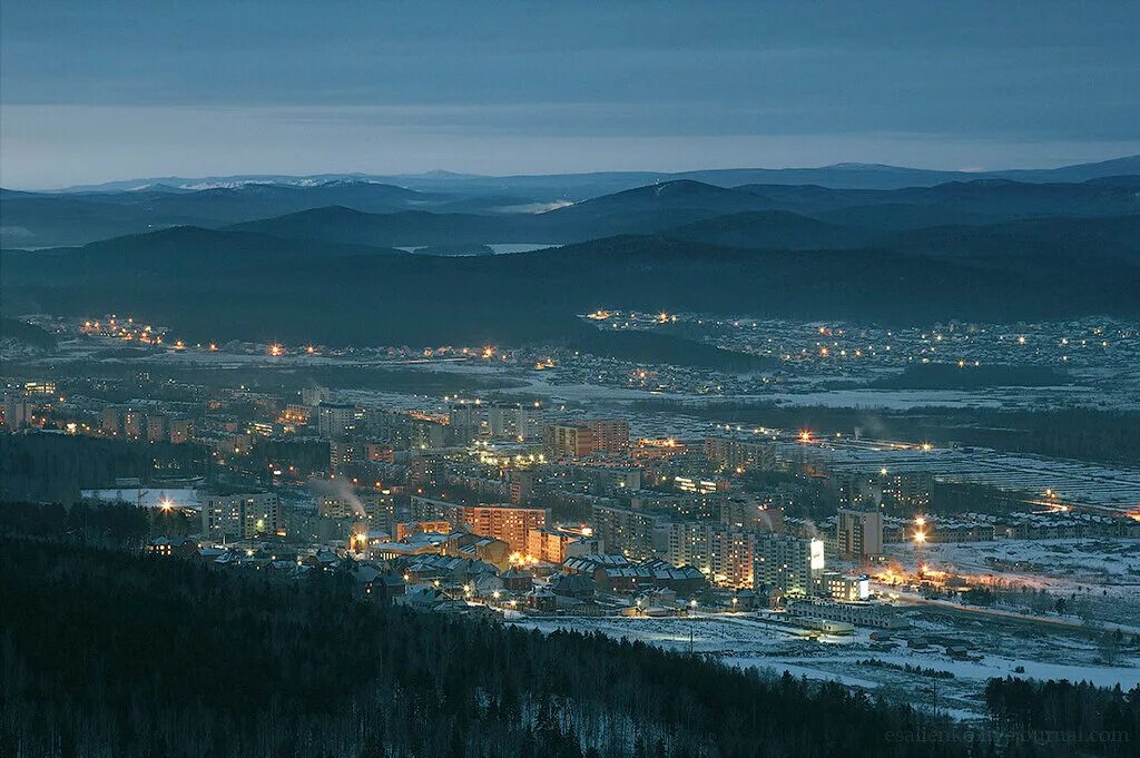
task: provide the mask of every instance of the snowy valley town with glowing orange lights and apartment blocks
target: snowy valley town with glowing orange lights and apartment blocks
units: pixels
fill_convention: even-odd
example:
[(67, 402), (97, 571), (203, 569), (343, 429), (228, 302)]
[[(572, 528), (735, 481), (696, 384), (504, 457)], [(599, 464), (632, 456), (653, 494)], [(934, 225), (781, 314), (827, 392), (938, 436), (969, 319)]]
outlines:
[[(189, 344), (113, 315), (40, 324), (58, 344), (16, 357), (3, 430), (33, 462), (73, 445), (90, 467), (10, 476), (6, 499), (142, 508), (140, 548), (158, 559), (283, 582), (334, 572), (361, 601), (597, 630), (901, 700), (943, 677), (926, 707), (961, 718), (1003, 674), (1135, 684), (1134, 467), (709, 421), (690, 401), (643, 405), (653, 393), (565, 351)], [(1134, 334), (1112, 336), (1134, 350)], [(311, 378), (328, 368), (412, 373), (400, 389), (329, 389)], [(417, 376), (464, 389), (417, 392)]]

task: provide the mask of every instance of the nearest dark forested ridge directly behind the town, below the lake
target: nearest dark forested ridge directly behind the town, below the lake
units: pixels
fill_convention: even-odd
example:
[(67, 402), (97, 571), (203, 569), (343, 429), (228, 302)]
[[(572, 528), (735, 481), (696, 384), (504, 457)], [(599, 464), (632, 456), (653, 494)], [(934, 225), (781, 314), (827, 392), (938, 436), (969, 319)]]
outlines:
[[(1113, 234), (1126, 234), (1129, 223)], [(327, 344), (568, 340), (589, 328), (576, 313), (606, 304), (907, 324), (1140, 312), (1135, 256), (1076, 246), (1033, 254), (1021, 241), (1024, 250), (1011, 254), (1012, 243), (994, 235), (954, 244), (968, 247), (744, 250), (627, 235), (442, 258), (179, 229), (6, 252), (0, 294), (6, 303), (76, 316), (129, 307), (202, 340)]]

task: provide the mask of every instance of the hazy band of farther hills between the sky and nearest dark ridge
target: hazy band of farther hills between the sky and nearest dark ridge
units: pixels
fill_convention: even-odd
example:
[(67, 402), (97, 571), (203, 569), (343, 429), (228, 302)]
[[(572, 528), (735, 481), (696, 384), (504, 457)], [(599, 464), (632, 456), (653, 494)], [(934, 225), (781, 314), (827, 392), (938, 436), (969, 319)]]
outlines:
[(0, 244), (22, 248), (176, 226), (233, 225), (283, 237), (376, 245), (564, 244), (654, 234), (751, 211), (787, 211), (838, 226), (894, 230), (1048, 215), (1126, 215), (1140, 212), (1140, 176), (1076, 184), (974, 179), (902, 189), (780, 184), (728, 188), (678, 179), (545, 212), (535, 211), (546, 205), (521, 195), (422, 191), (361, 180), (60, 195), (3, 190), (0, 207)]

